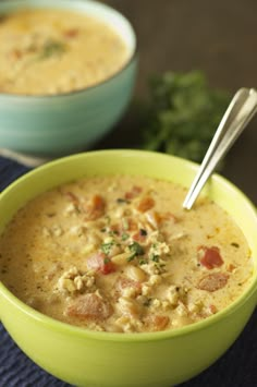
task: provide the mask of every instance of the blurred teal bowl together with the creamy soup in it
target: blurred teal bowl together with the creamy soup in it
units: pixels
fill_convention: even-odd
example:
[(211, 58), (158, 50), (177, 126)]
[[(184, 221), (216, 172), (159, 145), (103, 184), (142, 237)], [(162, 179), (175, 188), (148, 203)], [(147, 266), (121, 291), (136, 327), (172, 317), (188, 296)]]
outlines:
[(1, 1), (1, 147), (54, 157), (89, 148), (135, 83), (130, 22), (90, 0)]

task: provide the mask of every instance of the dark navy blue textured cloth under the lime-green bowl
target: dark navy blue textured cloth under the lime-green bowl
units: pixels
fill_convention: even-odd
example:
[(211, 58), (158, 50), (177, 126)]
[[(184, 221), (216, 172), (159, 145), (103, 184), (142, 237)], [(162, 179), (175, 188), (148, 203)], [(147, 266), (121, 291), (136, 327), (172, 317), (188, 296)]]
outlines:
[[(0, 191), (27, 171), (28, 168), (0, 157)], [(0, 324), (0, 387), (69, 386), (33, 363)], [(232, 348), (216, 364), (182, 386), (257, 387), (257, 311)]]

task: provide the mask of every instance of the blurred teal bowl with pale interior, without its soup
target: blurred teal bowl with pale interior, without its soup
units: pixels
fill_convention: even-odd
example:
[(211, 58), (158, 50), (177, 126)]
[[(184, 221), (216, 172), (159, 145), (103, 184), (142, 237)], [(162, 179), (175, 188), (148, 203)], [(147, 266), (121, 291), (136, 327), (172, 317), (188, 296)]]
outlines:
[(130, 50), (126, 64), (96, 86), (54, 96), (0, 94), (1, 147), (44, 157), (87, 149), (113, 128), (132, 97), (137, 68), (134, 29), (122, 14), (91, 0), (4, 0), (0, 14), (25, 7), (68, 9), (96, 16), (110, 24)]

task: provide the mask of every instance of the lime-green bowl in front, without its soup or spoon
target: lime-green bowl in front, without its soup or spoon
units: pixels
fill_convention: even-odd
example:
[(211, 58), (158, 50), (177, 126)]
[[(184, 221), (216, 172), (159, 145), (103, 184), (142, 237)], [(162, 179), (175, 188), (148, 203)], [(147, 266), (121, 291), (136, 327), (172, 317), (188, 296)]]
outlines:
[[(27, 173), (0, 195), (0, 232), (27, 201), (74, 179), (131, 173), (188, 188), (197, 168), (176, 157), (142, 150), (100, 150), (65, 157)], [(257, 215), (244, 194), (219, 176), (209, 180), (205, 194), (231, 214), (253, 252), (252, 283), (233, 304), (174, 330), (98, 332), (47, 317), (0, 283), (0, 317), (14, 341), (42, 368), (77, 386), (171, 386), (208, 367), (234, 342), (256, 306)]]

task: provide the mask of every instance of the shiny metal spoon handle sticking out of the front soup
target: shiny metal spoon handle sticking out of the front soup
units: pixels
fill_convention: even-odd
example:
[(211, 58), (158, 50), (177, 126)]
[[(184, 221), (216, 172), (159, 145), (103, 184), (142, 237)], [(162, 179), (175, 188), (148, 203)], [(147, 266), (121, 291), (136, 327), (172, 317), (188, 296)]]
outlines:
[(238, 89), (219, 124), (198, 173), (191, 185), (183, 203), (184, 208), (192, 208), (216, 166), (238, 138), (256, 111), (257, 92), (254, 88)]

